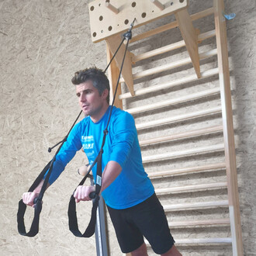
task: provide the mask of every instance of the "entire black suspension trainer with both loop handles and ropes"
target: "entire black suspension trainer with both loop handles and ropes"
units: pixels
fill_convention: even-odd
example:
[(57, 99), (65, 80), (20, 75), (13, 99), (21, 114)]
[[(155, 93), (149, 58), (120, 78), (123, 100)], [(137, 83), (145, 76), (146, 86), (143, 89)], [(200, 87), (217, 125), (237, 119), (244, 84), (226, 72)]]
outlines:
[[(130, 26), (130, 29), (126, 33), (123, 34), (124, 38), (123, 38), (122, 42), (120, 43), (116, 52), (121, 47), (124, 39), (127, 40), (127, 43), (126, 43), (126, 50), (127, 50), (129, 40), (131, 39), (131, 29), (133, 28), (134, 21), (135, 21), (135, 19), (133, 20), (133, 22)], [(124, 60), (125, 60), (125, 57), (126, 57), (126, 50), (125, 50), (125, 53), (124, 53), (124, 56), (123, 56), (123, 63), (124, 63)], [(116, 53), (113, 55), (111, 61), (113, 60), (115, 55), (116, 55)], [(109, 62), (109, 64), (111, 63), (111, 61)], [(106, 125), (106, 130), (104, 130), (104, 137), (103, 137), (103, 141), (102, 141), (101, 150), (99, 151), (99, 155), (98, 155), (98, 157), (96, 157), (96, 159), (95, 159), (94, 163), (92, 164), (91, 168), (89, 169), (87, 175), (85, 175), (85, 178), (83, 178), (81, 180), (80, 184), (79, 184), (79, 185), (83, 185), (85, 183), (85, 179), (88, 177), (89, 172), (92, 170), (92, 167), (97, 163), (95, 193), (93, 193), (93, 195), (90, 195), (91, 198), (94, 198), (93, 206), (92, 206), (92, 216), (91, 216), (91, 220), (90, 220), (90, 222), (88, 224), (88, 227), (85, 230), (84, 234), (81, 234), (81, 232), (78, 230), (78, 219), (77, 219), (77, 214), (76, 214), (76, 204), (75, 204), (75, 200), (74, 200), (74, 195), (71, 195), (71, 199), (70, 199), (70, 202), (69, 202), (69, 206), (68, 206), (69, 227), (70, 227), (71, 232), (77, 237), (92, 237), (92, 235), (95, 233), (96, 213), (97, 213), (97, 208), (99, 206), (99, 199), (100, 199), (99, 192), (101, 190), (103, 147), (104, 147), (104, 144), (105, 144), (105, 141), (106, 141), (106, 135), (108, 133), (107, 128), (109, 126), (109, 121), (110, 121), (110, 117), (111, 117), (111, 114), (112, 114), (112, 107), (113, 107), (114, 101), (116, 99), (116, 92), (117, 92), (117, 88), (118, 88), (118, 85), (119, 85), (119, 79), (120, 79), (120, 76), (121, 76), (121, 72), (122, 72), (122, 69), (123, 69), (123, 63), (120, 67), (119, 78), (118, 78), (118, 81), (117, 81), (117, 84), (116, 84), (116, 91), (115, 91), (115, 94), (114, 94), (114, 97), (113, 97), (113, 100), (112, 100), (112, 106), (111, 106), (110, 113), (109, 113), (108, 123)], [(108, 65), (108, 67), (109, 67), (109, 65)], [(108, 67), (106, 67), (106, 69)], [(35, 202), (33, 222), (31, 224), (29, 232), (26, 232), (26, 227), (25, 227), (25, 224), (24, 224), (24, 215), (26, 213), (26, 204), (22, 201), (22, 199), (19, 201), (19, 209), (18, 209), (18, 213), (17, 213), (17, 223), (18, 223), (19, 234), (21, 234), (22, 236), (34, 237), (39, 231), (39, 221), (40, 221), (40, 213), (41, 213), (41, 210), (42, 210), (43, 194), (47, 189), (47, 183), (49, 181), (50, 174), (51, 174), (51, 171), (53, 169), (53, 164), (54, 164), (54, 161), (55, 161), (55, 157), (56, 157), (57, 153), (61, 150), (61, 147), (63, 146), (64, 142), (67, 140), (67, 137), (68, 137), (69, 133), (71, 132), (72, 128), (74, 127), (74, 124), (77, 122), (79, 116), (81, 115), (81, 112), (79, 113), (77, 119), (75, 119), (75, 121), (73, 123), (73, 126), (71, 126), (71, 129), (67, 133), (67, 136), (64, 137), (64, 140), (62, 140), (60, 143), (58, 143), (58, 144), (61, 144), (61, 146), (58, 148), (58, 150), (57, 150), (56, 154), (54, 155), (53, 159), (45, 166), (45, 168), (43, 168), (43, 171), (41, 171), (40, 175), (36, 178), (35, 182), (33, 182), (33, 185), (29, 188), (28, 192), (33, 192), (33, 190), (36, 189), (37, 185), (40, 184), (44, 175), (47, 173), (47, 170), (49, 170), (48, 173), (47, 173), (47, 176), (44, 179), (42, 189), (40, 190), (40, 194), (38, 195), (38, 198), (36, 199), (36, 202)], [(58, 144), (56, 144), (54, 147), (56, 147)], [(52, 147), (52, 148), (54, 148), (54, 147)], [(52, 148), (49, 148), (48, 151), (50, 152), (50, 150)]]

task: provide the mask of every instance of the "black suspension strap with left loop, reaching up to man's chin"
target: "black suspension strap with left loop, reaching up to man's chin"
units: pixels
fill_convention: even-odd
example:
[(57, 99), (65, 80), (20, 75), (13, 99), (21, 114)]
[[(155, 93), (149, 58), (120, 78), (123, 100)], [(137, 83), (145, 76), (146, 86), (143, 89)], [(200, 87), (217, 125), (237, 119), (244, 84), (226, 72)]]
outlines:
[[(71, 129), (67, 133), (67, 136), (64, 137), (64, 139), (61, 140), (60, 143), (58, 143), (58, 144), (61, 144), (61, 146), (58, 148), (58, 150), (57, 150), (56, 154), (54, 155), (53, 159), (45, 166), (45, 168), (43, 168), (43, 171), (41, 171), (40, 175), (38, 175), (36, 180), (33, 182), (33, 185), (31, 185), (31, 187), (29, 188), (28, 192), (33, 192), (33, 190), (36, 189), (36, 187), (42, 181), (44, 175), (47, 173), (47, 175), (46, 175), (46, 177), (43, 181), (43, 186), (40, 190), (40, 193), (34, 201), (34, 203), (35, 203), (35, 205), (34, 205), (34, 216), (33, 216), (33, 221), (32, 221), (29, 232), (26, 232), (26, 227), (25, 227), (25, 223), (24, 223), (24, 215), (26, 213), (26, 204), (22, 201), (22, 199), (19, 201), (19, 208), (18, 208), (18, 213), (17, 213), (17, 223), (18, 223), (19, 234), (21, 234), (22, 236), (34, 237), (39, 231), (39, 220), (40, 220), (40, 213), (41, 213), (41, 210), (42, 210), (43, 194), (47, 189), (47, 184), (48, 184), (48, 181), (49, 181), (49, 178), (50, 178), (50, 174), (53, 170), (53, 165), (54, 165), (54, 161), (56, 159), (56, 155), (61, 150), (61, 147), (64, 144), (64, 142), (67, 140), (67, 137), (68, 137), (69, 133), (71, 132), (72, 128), (74, 127), (74, 124), (77, 122), (79, 116), (81, 116), (81, 112), (79, 113), (78, 117), (75, 119), (73, 125), (71, 126)], [(54, 147), (56, 147), (57, 145), (55, 145)]]

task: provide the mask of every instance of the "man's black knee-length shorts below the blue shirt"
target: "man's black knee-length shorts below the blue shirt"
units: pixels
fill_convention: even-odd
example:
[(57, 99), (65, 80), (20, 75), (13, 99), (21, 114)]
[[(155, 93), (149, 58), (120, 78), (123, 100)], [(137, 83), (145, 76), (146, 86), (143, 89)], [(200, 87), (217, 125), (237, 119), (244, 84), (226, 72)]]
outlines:
[(137, 206), (127, 209), (112, 209), (108, 206), (108, 210), (123, 253), (140, 247), (144, 237), (156, 254), (164, 254), (175, 243), (164, 209), (155, 194)]

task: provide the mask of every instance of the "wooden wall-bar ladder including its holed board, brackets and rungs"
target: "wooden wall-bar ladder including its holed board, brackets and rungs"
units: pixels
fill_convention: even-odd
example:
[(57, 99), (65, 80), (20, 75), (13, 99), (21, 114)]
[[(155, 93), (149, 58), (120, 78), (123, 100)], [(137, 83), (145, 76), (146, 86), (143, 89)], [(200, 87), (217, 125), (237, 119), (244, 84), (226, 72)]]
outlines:
[[(115, 105), (134, 116), (144, 167), (164, 206), (170, 229), (175, 232), (202, 227), (230, 229), (230, 237), (220, 234), (188, 238), (177, 234), (177, 246), (226, 244), (230, 246), (233, 255), (243, 255), (223, 0), (213, 0), (213, 7), (192, 15), (189, 15), (188, 7), (189, 0), (92, 1), (89, 3), (92, 41), (97, 43), (106, 40), (109, 62), (134, 18), (136, 21), (133, 30), (137, 31), (140, 26), (152, 24), (157, 19), (172, 14), (175, 16), (173, 22), (153, 26), (153, 29), (146, 32), (143, 30), (142, 33), (140, 29), (133, 36), (130, 43), (137, 46), (139, 40), (148, 41), (150, 36), (167, 33), (177, 27), (182, 40), (156, 49), (150, 47), (148, 51), (136, 51), (136, 47), (130, 47), (135, 50), (128, 50), (126, 54), (119, 81), (124, 85), (123, 89), (119, 86)], [(215, 29), (200, 33), (193, 22), (208, 16), (214, 17)], [(215, 43), (207, 43), (207, 40), (214, 40), (214, 37)], [(206, 42), (206, 46), (201, 50), (199, 45), (202, 42)], [(150, 67), (152, 58), (168, 56), (182, 47), (188, 53), (186, 56), (182, 55), (185, 57)], [(124, 49), (123, 44), (109, 67), (112, 92), (116, 86)], [(141, 64), (145, 68), (136, 68), (145, 61), (149, 63)], [(204, 65), (209, 62), (216, 64), (209, 67)], [(171, 74), (178, 72), (177, 70), (186, 71), (185, 75), (171, 78)], [(158, 79), (149, 86), (140, 86), (140, 81), (148, 82), (152, 76), (162, 78), (166, 75), (164, 73), (168, 73), (170, 79)], [(175, 92), (180, 93), (173, 96)], [(161, 93), (163, 99), (158, 97)], [(171, 96), (166, 97), (168, 94)], [(156, 117), (152, 117), (151, 113)], [(177, 182), (172, 183), (175, 178)], [(167, 184), (167, 181), (170, 183)], [(182, 202), (178, 197), (181, 195), (183, 199), (187, 195)], [(209, 217), (207, 210), (216, 211), (216, 216)], [(169, 216), (175, 216), (176, 213), (185, 213), (185, 216), (192, 213), (191, 216), (195, 217), (198, 211), (200, 215), (197, 219), (169, 220)]]

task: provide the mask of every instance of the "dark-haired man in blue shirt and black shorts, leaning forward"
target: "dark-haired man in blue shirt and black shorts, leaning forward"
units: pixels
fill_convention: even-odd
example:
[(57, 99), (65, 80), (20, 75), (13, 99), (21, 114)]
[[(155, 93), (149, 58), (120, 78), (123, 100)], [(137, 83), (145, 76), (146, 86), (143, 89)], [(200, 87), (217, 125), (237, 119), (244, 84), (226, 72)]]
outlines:
[[(109, 119), (109, 80), (96, 67), (78, 71), (72, 82), (76, 85), (79, 105), (87, 117), (71, 130), (67, 141), (57, 154), (50, 175), (51, 185), (74, 154), (83, 147), (89, 164), (95, 160), (102, 145), (103, 130)], [(123, 253), (147, 255), (144, 237), (157, 254), (181, 255), (171, 237), (163, 207), (142, 164), (140, 146), (133, 116), (113, 107), (109, 133), (102, 154), (102, 189), (119, 246)], [(94, 178), (96, 168), (92, 169)], [(34, 192), (23, 194), (23, 202), (33, 206), (43, 181)], [(91, 200), (95, 186), (78, 186), (76, 202)]]

